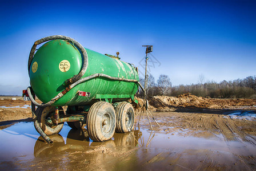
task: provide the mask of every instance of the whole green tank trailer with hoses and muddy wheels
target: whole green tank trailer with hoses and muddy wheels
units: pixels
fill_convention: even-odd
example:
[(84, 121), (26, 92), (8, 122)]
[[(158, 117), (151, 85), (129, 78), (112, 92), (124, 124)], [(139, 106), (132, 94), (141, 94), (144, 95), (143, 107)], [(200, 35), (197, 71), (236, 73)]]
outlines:
[(35, 129), (48, 143), (53, 143), (48, 136), (59, 133), (65, 121), (74, 129), (86, 125), (93, 141), (133, 131), (135, 113), (129, 100), (138, 103), (134, 95), (143, 87), (136, 68), (119, 59), (84, 48), (67, 36), (34, 43), (26, 96), (31, 99)]

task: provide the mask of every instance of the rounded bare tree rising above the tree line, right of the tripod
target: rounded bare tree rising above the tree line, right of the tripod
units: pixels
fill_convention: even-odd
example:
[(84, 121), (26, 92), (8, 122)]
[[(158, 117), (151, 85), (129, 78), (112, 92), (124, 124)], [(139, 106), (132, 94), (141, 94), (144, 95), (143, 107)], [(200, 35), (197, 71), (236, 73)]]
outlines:
[(171, 81), (169, 76), (161, 74), (157, 80), (158, 88), (163, 95), (171, 91)]

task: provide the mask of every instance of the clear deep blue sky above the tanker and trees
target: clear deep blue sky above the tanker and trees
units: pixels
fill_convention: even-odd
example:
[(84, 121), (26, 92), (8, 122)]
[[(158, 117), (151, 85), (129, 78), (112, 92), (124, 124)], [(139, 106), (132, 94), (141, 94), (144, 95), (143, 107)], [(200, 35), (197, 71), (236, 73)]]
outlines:
[[(33, 43), (66, 35), (143, 71), (142, 45), (153, 45), (158, 79), (173, 86), (221, 82), (255, 74), (256, 1), (6, 1), (0, 2), (0, 94), (29, 86)], [(155, 60), (157, 59), (157, 60)]]

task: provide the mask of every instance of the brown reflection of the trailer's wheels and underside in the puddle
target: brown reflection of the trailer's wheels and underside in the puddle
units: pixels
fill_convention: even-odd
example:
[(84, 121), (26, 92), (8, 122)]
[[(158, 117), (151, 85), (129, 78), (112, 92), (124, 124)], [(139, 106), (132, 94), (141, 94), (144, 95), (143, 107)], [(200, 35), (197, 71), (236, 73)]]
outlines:
[(70, 129), (67, 134), (66, 144), (61, 135), (51, 135), (50, 139), (54, 141), (52, 145), (46, 143), (40, 136), (35, 142), (34, 156), (50, 156), (59, 152), (67, 151), (89, 151), (92, 148), (134, 148), (138, 146), (138, 140), (141, 139), (142, 133), (139, 130), (129, 133), (115, 133), (113, 139), (105, 142), (91, 142), (86, 129)]

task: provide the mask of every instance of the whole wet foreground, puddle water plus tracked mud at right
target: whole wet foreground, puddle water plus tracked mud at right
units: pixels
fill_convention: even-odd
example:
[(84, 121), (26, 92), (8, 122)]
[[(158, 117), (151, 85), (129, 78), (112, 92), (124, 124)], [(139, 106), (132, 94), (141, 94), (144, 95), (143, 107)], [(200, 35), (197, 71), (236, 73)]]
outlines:
[(154, 132), (145, 118), (135, 131), (115, 133), (103, 143), (66, 123), (59, 135), (50, 136), (53, 145), (45, 143), (32, 122), (1, 126), (0, 170), (256, 169), (255, 121), (202, 113), (154, 115), (161, 125), (153, 123)]

